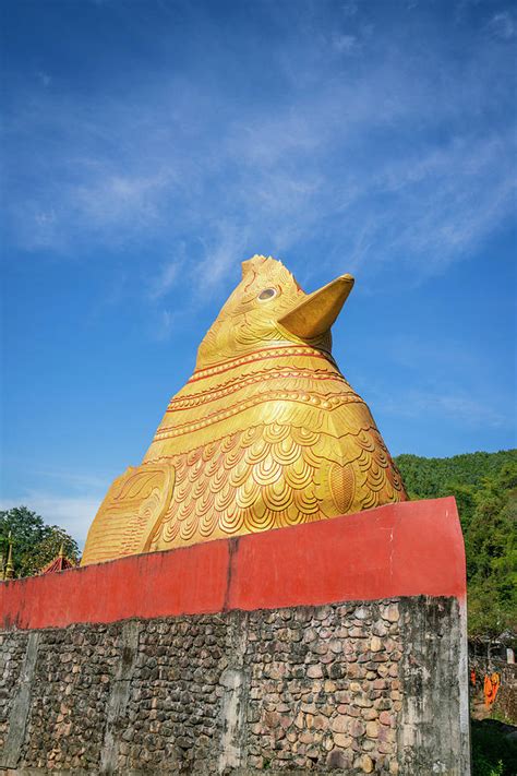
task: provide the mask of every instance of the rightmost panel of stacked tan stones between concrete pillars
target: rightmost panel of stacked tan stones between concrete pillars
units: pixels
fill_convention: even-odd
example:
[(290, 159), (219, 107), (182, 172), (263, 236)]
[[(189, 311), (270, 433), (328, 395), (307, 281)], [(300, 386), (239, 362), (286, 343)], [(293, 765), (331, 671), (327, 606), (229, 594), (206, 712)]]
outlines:
[(398, 773), (396, 602), (254, 612), (248, 763)]

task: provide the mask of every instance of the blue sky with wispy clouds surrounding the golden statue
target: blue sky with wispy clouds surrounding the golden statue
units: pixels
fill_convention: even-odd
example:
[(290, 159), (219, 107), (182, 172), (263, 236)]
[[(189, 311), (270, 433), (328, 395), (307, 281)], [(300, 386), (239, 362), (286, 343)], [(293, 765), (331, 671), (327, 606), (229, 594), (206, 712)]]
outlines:
[(2, 3), (2, 506), (80, 540), (273, 254), (392, 453), (515, 446), (517, 14)]

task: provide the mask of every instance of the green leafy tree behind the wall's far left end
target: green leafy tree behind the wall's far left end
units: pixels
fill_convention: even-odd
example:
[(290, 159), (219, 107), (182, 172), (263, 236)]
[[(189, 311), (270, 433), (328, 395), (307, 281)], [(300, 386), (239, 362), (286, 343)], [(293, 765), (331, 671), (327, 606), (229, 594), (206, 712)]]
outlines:
[(0, 552), (4, 559), (10, 536), (15, 576), (37, 574), (56, 558), (61, 544), (68, 558), (77, 561), (80, 557), (76, 541), (63, 528), (46, 525), (36, 512), (26, 506), (0, 512)]

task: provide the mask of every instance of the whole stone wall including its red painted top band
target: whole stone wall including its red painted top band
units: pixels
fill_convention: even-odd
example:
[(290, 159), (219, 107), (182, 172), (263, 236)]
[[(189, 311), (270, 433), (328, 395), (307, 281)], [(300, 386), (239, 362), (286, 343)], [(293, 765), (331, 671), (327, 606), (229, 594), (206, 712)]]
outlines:
[(0, 771), (469, 774), (454, 499), (0, 583)]

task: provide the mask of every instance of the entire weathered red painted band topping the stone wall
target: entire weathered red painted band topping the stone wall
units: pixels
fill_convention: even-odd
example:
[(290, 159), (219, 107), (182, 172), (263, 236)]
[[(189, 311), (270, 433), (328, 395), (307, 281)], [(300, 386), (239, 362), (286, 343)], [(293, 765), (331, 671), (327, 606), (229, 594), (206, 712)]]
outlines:
[(3, 628), (466, 594), (453, 498), (0, 584)]

